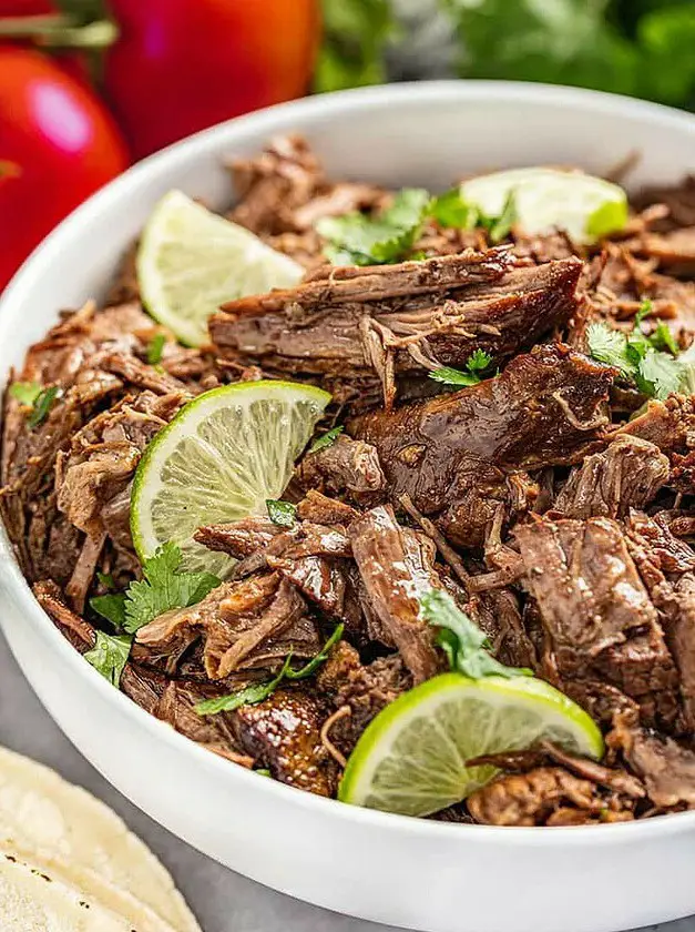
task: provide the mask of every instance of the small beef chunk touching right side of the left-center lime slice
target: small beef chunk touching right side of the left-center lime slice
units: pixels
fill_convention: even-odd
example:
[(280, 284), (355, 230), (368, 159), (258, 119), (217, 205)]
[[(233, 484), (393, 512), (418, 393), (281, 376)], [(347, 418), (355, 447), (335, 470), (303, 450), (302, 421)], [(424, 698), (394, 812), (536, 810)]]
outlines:
[(305, 489), (347, 495), (360, 505), (375, 504), (386, 494), (376, 448), (344, 434), (330, 446), (307, 453), (296, 476)]

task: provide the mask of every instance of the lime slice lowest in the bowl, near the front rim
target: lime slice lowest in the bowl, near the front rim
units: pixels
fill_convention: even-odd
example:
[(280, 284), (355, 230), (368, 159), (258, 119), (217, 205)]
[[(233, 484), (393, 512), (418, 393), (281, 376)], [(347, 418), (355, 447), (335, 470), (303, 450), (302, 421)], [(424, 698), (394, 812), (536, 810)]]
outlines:
[(480, 754), (554, 741), (600, 759), (603, 739), (571, 699), (533, 677), (442, 673), (387, 706), (369, 723), (345, 769), (344, 802), (429, 816), (460, 802), (494, 777), (467, 767)]

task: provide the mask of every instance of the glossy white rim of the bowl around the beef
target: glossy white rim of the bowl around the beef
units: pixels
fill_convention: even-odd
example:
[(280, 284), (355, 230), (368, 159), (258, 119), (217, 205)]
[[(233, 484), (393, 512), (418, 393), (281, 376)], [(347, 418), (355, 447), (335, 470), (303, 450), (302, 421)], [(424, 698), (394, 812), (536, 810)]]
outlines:
[[(296, 120), (300, 125), (307, 118), (319, 116), (327, 112), (349, 113), (380, 108), (389, 102), (401, 99), (419, 103), (438, 104), (447, 101), (484, 101), (491, 98), (504, 98), (507, 101), (523, 103), (558, 103), (569, 108), (592, 112), (632, 115), (648, 121), (652, 125), (670, 125), (695, 135), (695, 116), (674, 110), (662, 104), (642, 101), (633, 98), (592, 91), (581, 88), (542, 84), (522, 81), (481, 81), (481, 80), (442, 80), (426, 82), (403, 82), (398, 84), (358, 88), (335, 93), (320, 94), (276, 104), (244, 116), (218, 123), (166, 149), (150, 155), (136, 163), (109, 184), (104, 185), (65, 220), (63, 220), (31, 253), (10, 284), (0, 295), (0, 342), (12, 338), (12, 320), (24, 302), (31, 297), (33, 283), (40, 278), (44, 269), (59, 260), (63, 244), (71, 239), (80, 239), (83, 224), (99, 213), (109, 212), (119, 203), (122, 195), (131, 188), (146, 186), (166, 168), (187, 164), (195, 161), (196, 154), (205, 154), (211, 142), (218, 142), (225, 138), (229, 146), (243, 143), (246, 138), (272, 135), (277, 131), (278, 120), (286, 118)], [(4, 373), (2, 374), (4, 375)], [(121, 715), (132, 717), (134, 723), (149, 731), (153, 740), (166, 742), (173, 752), (192, 754), (198, 766), (211, 773), (216, 780), (226, 780), (229, 787), (235, 783), (243, 791), (244, 787), (259, 784), (247, 783), (257, 781), (258, 774), (243, 767), (231, 767), (229, 762), (196, 744), (165, 722), (146, 712), (131, 700), (120, 689), (114, 689), (93, 667), (84, 662), (82, 656), (60, 634), (48, 614), (37, 601), (24, 578), (9, 543), (4, 526), (0, 524), (0, 569), (2, 590), (12, 591), (18, 606), (25, 612), (27, 621), (37, 629), (37, 634), (44, 637), (58, 652), (59, 658), (68, 666), (71, 673), (86, 677), (92, 688), (101, 693), (104, 701), (115, 702)], [(275, 793), (278, 803), (303, 808), (327, 819), (365, 827), (389, 833), (399, 833), (419, 839), (432, 839), (450, 835), (451, 840), (458, 833), (461, 842), (471, 838), (479, 844), (505, 844), (527, 847), (533, 845), (572, 845), (585, 847), (596, 842), (602, 844), (623, 844), (625, 837), (632, 835), (634, 841), (647, 838), (664, 838), (692, 831), (695, 827), (695, 811), (668, 813), (652, 819), (632, 822), (616, 822), (601, 827), (573, 825), (555, 827), (549, 831), (546, 827), (497, 827), (438, 822), (429, 819), (416, 819), (389, 812), (348, 806), (339, 800), (315, 796), (305, 790), (286, 786), (276, 780), (264, 780), (265, 793)]]

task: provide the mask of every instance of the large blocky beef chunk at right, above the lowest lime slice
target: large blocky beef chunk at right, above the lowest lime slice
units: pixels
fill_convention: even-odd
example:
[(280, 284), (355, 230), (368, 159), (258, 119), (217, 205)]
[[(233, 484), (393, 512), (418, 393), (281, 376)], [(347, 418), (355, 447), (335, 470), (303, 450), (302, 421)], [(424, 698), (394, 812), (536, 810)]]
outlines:
[(573, 695), (575, 680), (603, 680), (637, 701), (645, 721), (672, 725), (677, 671), (621, 526), (536, 518), (515, 536), (562, 687)]

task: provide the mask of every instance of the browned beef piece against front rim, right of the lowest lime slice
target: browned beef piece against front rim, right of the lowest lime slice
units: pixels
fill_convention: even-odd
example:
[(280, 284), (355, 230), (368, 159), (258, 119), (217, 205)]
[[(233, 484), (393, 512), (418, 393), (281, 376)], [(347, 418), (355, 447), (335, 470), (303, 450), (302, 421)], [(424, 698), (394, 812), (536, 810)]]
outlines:
[(633, 818), (632, 801), (611, 797), (562, 767), (508, 773), (472, 793), (468, 810), (487, 825), (559, 825)]

